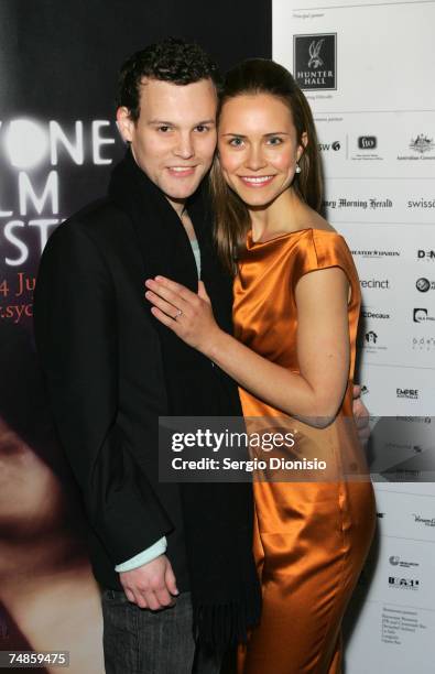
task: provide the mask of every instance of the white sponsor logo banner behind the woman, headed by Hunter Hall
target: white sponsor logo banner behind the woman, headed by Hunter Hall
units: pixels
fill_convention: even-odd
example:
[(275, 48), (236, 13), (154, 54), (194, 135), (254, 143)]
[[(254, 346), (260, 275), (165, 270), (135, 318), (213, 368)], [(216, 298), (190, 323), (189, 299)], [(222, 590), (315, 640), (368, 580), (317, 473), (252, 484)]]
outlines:
[(363, 295), (379, 531), (347, 621), (348, 674), (434, 671), (434, 2), (273, 0), (273, 58), (312, 106), (326, 216)]

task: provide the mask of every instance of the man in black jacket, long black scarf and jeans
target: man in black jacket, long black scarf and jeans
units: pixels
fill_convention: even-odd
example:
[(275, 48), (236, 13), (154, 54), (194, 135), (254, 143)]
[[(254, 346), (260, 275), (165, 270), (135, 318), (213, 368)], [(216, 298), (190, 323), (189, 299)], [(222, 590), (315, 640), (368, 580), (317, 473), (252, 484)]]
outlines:
[(108, 674), (218, 672), (215, 653), (259, 618), (250, 487), (157, 477), (160, 415), (241, 414), (233, 382), (155, 322), (144, 298), (148, 278), (196, 292), (200, 275), (231, 329), (231, 284), (198, 189), (216, 146), (218, 86), (215, 64), (183, 41), (124, 64), (117, 119), (130, 149), (108, 198), (51, 237), (36, 285), (39, 352), (104, 588)]

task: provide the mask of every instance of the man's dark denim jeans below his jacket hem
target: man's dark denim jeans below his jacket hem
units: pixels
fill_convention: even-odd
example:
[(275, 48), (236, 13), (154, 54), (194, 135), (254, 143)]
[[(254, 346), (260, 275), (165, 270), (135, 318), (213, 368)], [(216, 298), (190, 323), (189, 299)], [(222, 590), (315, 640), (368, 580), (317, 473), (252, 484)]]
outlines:
[(104, 590), (101, 604), (106, 674), (219, 674), (221, 656), (196, 648), (189, 593), (161, 611), (116, 590)]

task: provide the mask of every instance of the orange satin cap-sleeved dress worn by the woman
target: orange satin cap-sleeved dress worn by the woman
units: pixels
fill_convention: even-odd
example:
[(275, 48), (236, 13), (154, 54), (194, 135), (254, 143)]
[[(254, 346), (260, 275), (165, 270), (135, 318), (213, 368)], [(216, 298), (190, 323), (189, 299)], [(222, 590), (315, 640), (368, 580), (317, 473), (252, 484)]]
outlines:
[[(301, 481), (255, 476), (253, 548), (263, 609), (260, 626), (239, 649), (239, 674), (340, 672), (341, 619), (374, 531), (373, 489), (352, 417), (360, 287), (344, 238), (304, 229), (253, 242), (249, 233), (235, 281), (235, 335), (264, 358), (298, 372), (295, 287), (304, 274), (330, 267), (344, 270), (351, 289), (344, 402), (324, 430), (286, 417), (301, 454), (328, 461), (328, 479), (303, 481), (304, 471)], [(242, 389), (240, 396), (244, 417), (285, 416)]]

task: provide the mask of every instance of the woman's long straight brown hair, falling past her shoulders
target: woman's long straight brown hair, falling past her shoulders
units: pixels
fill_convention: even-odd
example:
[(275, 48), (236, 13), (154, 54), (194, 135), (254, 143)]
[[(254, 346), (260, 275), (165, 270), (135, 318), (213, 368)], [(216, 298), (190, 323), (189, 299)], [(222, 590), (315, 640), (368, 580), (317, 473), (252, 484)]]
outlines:
[[(265, 58), (250, 58), (227, 74), (219, 99), (218, 120), (227, 100), (246, 94), (275, 96), (287, 106), (300, 144), (303, 133), (306, 133), (307, 144), (298, 162), (301, 173), (295, 173), (292, 187), (308, 206), (319, 211), (323, 197), (320, 159), (313, 115), (304, 94), (283, 66)], [(244, 203), (227, 185), (218, 156), (210, 172), (210, 188), (218, 254), (226, 269), (235, 274), (238, 253), (243, 249), (250, 229), (250, 217)]]

